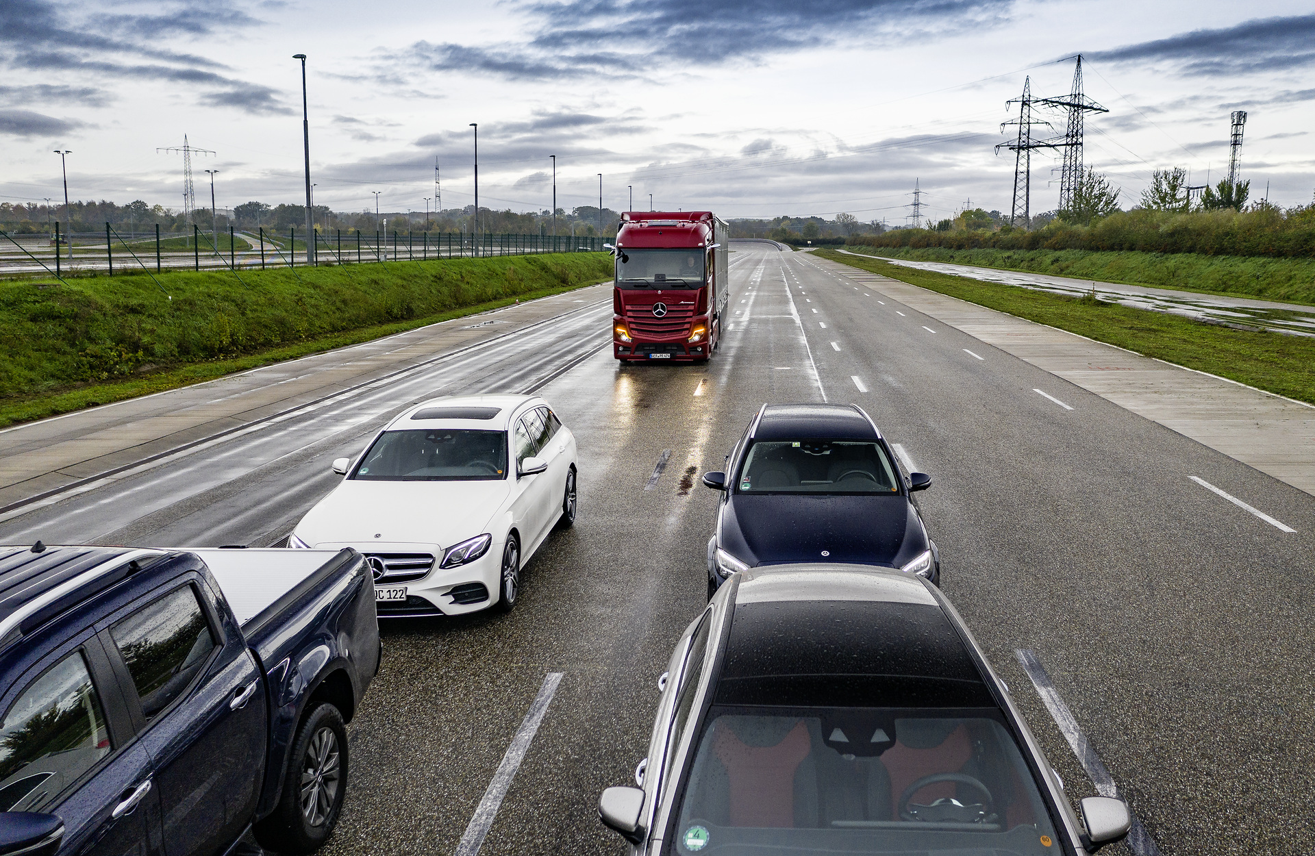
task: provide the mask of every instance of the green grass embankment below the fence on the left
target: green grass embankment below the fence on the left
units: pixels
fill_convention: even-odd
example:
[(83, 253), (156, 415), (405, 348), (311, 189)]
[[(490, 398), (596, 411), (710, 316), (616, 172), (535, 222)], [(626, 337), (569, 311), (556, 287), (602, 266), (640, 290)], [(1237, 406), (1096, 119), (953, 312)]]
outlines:
[(602, 252), (0, 283), (0, 425), (602, 281)]

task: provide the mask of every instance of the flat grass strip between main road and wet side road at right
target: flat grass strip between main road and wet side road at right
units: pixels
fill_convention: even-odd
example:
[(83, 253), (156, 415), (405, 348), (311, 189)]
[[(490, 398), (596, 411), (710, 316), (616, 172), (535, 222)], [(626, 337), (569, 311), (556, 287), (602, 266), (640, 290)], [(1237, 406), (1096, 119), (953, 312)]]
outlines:
[(814, 252), (910, 285), (1315, 404), (1315, 339), (1307, 337), (1232, 330), (1090, 297), (982, 283), (834, 250)]

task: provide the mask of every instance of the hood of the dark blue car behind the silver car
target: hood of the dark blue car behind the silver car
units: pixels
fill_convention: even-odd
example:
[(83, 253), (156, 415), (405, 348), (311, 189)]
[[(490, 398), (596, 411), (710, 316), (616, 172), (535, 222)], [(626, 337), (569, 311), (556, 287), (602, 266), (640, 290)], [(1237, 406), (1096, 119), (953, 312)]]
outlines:
[(844, 561), (898, 567), (927, 550), (922, 519), (903, 496), (736, 493), (722, 510), (717, 540), (751, 565)]

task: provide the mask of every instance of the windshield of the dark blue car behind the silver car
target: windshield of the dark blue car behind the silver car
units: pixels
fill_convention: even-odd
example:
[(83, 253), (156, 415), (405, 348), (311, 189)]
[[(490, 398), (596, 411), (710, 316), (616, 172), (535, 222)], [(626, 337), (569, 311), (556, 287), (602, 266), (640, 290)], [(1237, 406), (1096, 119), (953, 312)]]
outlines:
[(898, 493), (881, 446), (853, 440), (760, 440), (740, 469), (739, 493)]

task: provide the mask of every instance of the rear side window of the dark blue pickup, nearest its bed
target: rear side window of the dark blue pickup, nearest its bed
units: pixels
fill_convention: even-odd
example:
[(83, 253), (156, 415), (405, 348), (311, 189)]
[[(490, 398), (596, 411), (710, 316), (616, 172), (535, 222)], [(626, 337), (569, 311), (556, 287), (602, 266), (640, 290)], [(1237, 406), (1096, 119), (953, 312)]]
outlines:
[(154, 719), (192, 682), (214, 650), (210, 626), (191, 585), (155, 598), (109, 630)]

